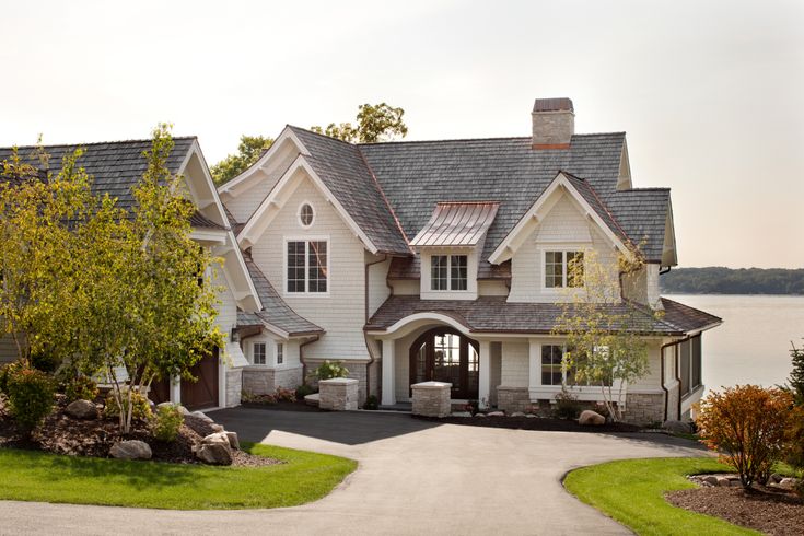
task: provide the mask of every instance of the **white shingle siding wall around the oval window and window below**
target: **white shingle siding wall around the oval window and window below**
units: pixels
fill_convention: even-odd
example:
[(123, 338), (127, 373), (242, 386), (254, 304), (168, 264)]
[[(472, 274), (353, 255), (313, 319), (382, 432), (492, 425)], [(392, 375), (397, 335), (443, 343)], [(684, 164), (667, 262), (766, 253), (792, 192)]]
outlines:
[[(302, 228), (296, 215), (302, 202), (310, 202), (315, 219)], [(329, 277), (327, 294), (286, 292), (286, 238), (327, 236)], [(321, 340), (304, 348), (310, 359), (369, 359), (363, 338), (364, 247), (339, 213), (305, 178), (252, 248), (252, 256), (288, 305), (326, 330)]]

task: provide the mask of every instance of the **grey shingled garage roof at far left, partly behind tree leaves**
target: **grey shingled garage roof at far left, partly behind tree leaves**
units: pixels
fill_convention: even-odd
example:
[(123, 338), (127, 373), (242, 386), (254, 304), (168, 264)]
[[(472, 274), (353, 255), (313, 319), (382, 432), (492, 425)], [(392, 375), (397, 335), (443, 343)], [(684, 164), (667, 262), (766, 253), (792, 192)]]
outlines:
[[(195, 137), (173, 138), (173, 151), (167, 156), (167, 168), (171, 173), (178, 173), (182, 163), (187, 158)], [(95, 193), (108, 194), (117, 198), (117, 206), (126, 210), (133, 208), (135, 200), (131, 187), (142, 178), (148, 168), (148, 162), (142, 153), (150, 150), (152, 140), (108, 141), (101, 143), (77, 143), (70, 145), (45, 145), (50, 155), (49, 167), (54, 173), (61, 170), (61, 161), (72, 154), (75, 149), (83, 148), (84, 154), (77, 164), (93, 176), (92, 189)], [(23, 162), (40, 167), (39, 159), (33, 145), (20, 147), (18, 153)], [(0, 148), (0, 161), (11, 158), (11, 148)]]

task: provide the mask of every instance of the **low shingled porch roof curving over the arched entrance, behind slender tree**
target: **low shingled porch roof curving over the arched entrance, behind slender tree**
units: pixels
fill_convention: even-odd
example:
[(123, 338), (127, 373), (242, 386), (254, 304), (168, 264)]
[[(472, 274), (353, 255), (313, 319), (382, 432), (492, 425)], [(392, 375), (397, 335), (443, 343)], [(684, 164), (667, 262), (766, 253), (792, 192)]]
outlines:
[[(477, 300), (420, 300), (413, 295), (393, 295), (365, 325), (366, 330), (384, 330), (416, 313), (439, 313), (450, 316), (474, 333), (550, 334), (563, 314), (556, 303), (509, 303), (506, 296), (480, 296)], [(712, 327), (721, 319), (702, 311), (662, 299), (665, 315), (655, 318), (641, 306), (628, 303), (606, 305), (613, 314), (637, 312), (633, 326), (640, 333), (684, 335)]]

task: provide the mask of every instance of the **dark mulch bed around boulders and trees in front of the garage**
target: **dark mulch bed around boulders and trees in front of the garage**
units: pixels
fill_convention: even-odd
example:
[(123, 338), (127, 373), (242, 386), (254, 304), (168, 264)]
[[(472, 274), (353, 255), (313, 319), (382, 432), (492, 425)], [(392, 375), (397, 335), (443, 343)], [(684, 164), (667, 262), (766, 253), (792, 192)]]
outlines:
[[(209, 422), (188, 415), (185, 416), (185, 423), (179, 428), (176, 441), (168, 443), (154, 439), (147, 422), (135, 421), (131, 424), (131, 433), (121, 434), (117, 419), (73, 419), (65, 413), (66, 406), (65, 398), (58, 396), (55, 410), (34, 432), (32, 439), (27, 440), (18, 433), (12, 419), (5, 411), (2, 397), (0, 397), (0, 447), (105, 458), (109, 457), (112, 445), (118, 441), (140, 440), (149, 444), (154, 461), (200, 464), (193, 453), (193, 447), (200, 443), (203, 436), (214, 432)], [(235, 467), (259, 467), (281, 463), (242, 451), (233, 451), (232, 457), (232, 466)]]

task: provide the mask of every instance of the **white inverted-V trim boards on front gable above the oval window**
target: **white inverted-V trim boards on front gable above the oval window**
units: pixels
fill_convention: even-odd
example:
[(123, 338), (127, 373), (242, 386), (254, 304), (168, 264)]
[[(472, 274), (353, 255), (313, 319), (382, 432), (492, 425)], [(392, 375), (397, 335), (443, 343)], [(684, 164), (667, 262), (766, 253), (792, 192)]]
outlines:
[[(338, 201), (338, 199), (333, 195), (329, 188), (327, 188), (318, 174), (315, 173), (313, 167), (305, 160), (303, 154), (296, 156), (293, 163), (288, 167), (282, 177), (279, 179), (277, 185), (270, 191), (270, 194), (268, 194), (268, 197), (266, 197), (259, 205), (259, 207), (257, 207), (257, 210), (248, 219), (246, 226), (244, 226), (237, 235), (237, 243), (242, 247), (250, 247), (257, 243), (257, 241), (268, 229), (268, 225), (277, 215), (279, 210), (281, 210), (284, 206), (287, 199), (282, 199), (281, 196), (287, 188), (292, 186), (294, 174), (299, 170), (304, 170), (315, 187), (318, 188), (324, 198), (333, 207), (335, 207), (336, 212), (338, 212), (340, 218), (346, 222), (352, 233), (354, 233), (354, 235), (363, 243), (365, 248), (369, 249), (370, 253), (376, 254), (378, 250), (377, 247), (363, 232), (363, 230), (360, 229), (352, 217), (349, 215), (349, 212), (347, 212), (340, 201)], [(271, 207), (276, 207), (276, 210), (270, 210)]]

